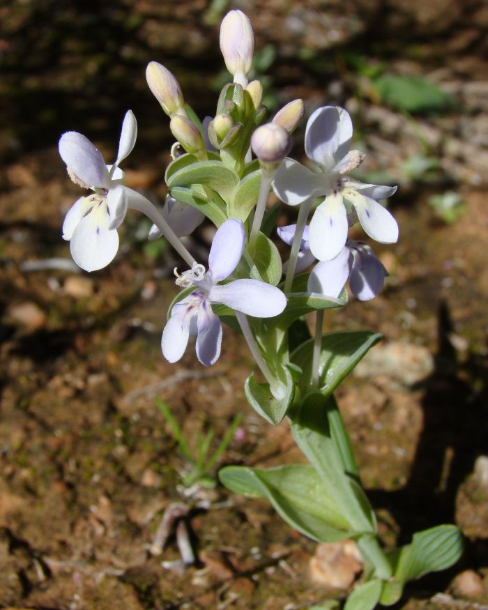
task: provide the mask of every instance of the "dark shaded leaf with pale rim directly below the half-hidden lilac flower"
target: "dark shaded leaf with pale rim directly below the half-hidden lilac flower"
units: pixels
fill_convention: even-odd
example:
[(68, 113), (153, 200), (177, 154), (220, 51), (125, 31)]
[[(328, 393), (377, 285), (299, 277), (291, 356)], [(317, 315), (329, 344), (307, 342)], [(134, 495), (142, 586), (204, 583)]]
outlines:
[(273, 318), (273, 323), (282, 328), (288, 328), (290, 324), (300, 316), (317, 310), (328, 310), (334, 307), (342, 307), (347, 303), (345, 290), (340, 293), (339, 298), (323, 296), (317, 292), (307, 291), (309, 273), (297, 275), (293, 280), (291, 292), (287, 294), (287, 308), (282, 314)]

